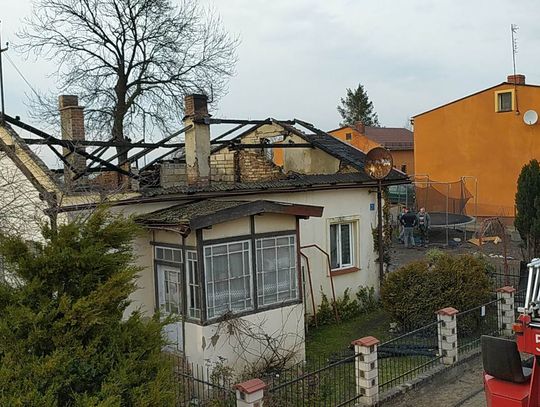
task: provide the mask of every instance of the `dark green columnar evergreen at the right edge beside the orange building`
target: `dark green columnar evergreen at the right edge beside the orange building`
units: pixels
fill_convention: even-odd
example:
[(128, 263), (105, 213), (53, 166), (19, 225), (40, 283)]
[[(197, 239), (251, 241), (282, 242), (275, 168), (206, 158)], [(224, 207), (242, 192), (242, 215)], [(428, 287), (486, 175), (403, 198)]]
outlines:
[(531, 160), (519, 174), (514, 225), (525, 242), (528, 260), (540, 255), (540, 164)]

